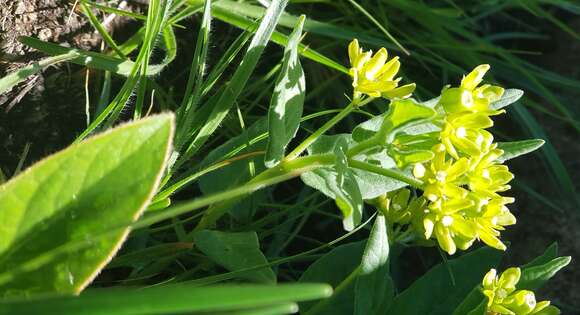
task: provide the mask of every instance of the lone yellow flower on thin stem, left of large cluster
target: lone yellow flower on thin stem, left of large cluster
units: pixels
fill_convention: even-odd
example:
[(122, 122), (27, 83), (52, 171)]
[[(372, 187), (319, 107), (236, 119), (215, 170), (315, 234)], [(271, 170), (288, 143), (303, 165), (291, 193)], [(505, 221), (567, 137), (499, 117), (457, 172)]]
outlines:
[(348, 45), (350, 60), (349, 73), (353, 78), (355, 97), (366, 94), (371, 97), (406, 98), (415, 90), (415, 84), (400, 87), (401, 78), (395, 78), (401, 63), (399, 57), (388, 60), (388, 53), (381, 48), (373, 55), (372, 51), (363, 51), (358, 40), (353, 39)]

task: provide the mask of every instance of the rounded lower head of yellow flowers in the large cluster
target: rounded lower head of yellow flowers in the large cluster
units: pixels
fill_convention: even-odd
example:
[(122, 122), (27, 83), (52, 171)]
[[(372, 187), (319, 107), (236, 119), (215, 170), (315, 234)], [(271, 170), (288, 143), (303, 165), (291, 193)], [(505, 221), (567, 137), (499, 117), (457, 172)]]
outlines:
[(500, 240), (504, 226), (513, 225), (516, 218), (506, 207), (513, 198), (498, 192), (509, 188), (512, 175), (495, 160), (503, 153), (492, 145), (490, 150), (475, 157), (448, 158), (443, 144), (433, 147), (434, 158), (429, 164), (418, 163), (413, 175), (423, 181), (423, 197), (429, 201), (414, 220), (415, 228), (425, 239), (434, 238), (450, 255), (457, 249), (469, 248), (476, 239), (505, 250)]

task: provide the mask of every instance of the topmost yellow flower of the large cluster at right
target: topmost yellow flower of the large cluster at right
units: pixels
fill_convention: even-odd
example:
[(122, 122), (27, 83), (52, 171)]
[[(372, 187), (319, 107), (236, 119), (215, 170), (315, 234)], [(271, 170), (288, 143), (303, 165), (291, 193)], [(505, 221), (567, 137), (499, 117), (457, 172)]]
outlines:
[(489, 65), (479, 65), (463, 77), (459, 87), (445, 88), (441, 93), (439, 104), (447, 113), (462, 111), (487, 112), (488, 115), (502, 113), (503, 111), (491, 110), (489, 105), (501, 98), (504, 89), (489, 84), (477, 87), (489, 68)]

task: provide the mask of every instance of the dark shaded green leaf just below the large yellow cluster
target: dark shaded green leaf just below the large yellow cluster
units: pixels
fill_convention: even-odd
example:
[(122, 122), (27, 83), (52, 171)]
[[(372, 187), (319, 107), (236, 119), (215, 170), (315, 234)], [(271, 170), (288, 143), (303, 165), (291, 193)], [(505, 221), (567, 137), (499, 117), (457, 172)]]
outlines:
[(500, 259), (500, 251), (483, 247), (443, 262), (397, 295), (387, 314), (451, 314)]

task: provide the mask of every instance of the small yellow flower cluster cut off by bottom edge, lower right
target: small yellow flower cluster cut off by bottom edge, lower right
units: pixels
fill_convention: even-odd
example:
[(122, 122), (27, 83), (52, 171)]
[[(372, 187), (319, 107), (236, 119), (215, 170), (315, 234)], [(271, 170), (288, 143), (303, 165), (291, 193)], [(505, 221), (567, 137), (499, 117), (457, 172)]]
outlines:
[(560, 310), (550, 301), (536, 302), (534, 292), (517, 290), (520, 268), (509, 268), (501, 276), (491, 269), (483, 278), (483, 294), (487, 297), (486, 315), (558, 315)]

